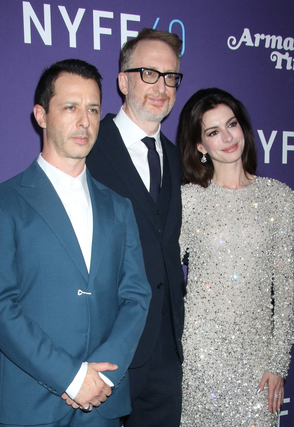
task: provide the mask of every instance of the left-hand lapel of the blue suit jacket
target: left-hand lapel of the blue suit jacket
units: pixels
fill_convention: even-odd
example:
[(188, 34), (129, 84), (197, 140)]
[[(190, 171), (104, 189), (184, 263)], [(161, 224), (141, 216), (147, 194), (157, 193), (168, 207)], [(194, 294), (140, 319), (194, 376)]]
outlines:
[(58, 194), (37, 160), (24, 171), (21, 186), (15, 187), (15, 190), (44, 219), (87, 282), (89, 275), (73, 226)]

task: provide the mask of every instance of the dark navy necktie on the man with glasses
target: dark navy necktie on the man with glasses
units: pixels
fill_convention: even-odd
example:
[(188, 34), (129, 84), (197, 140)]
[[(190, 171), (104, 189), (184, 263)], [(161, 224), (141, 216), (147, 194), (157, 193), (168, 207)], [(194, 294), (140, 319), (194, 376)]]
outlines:
[(149, 171), (150, 171), (149, 194), (155, 203), (157, 200), (157, 197), (159, 195), (160, 187), (161, 187), (160, 157), (156, 151), (155, 138), (151, 138), (149, 136), (146, 136), (141, 141), (148, 148), (147, 158), (148, 158), (148, 165), (149, 165)]

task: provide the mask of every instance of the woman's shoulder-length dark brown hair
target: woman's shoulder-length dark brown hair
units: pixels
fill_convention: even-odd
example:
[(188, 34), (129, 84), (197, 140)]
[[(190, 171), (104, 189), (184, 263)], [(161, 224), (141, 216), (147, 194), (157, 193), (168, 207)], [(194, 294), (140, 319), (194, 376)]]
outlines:
[(197, 146), (201, 143), (204, 114), (220, 104), (230, 107), (242, 128), (245, 139), (242, 153), (244, 171), (251, 175), (256, 173), (254, 135), (246, 108), (242, 102), (226, 91), (218, 88), (201, 89), (192, 95), (180, 113), (177, 143), (182, 157), (185, 183), (192, 182), (202, 187), (208, 187), (212, 180), (214, 172), (212, 160), (207, 155), (207, 162), (202, 163), (202, 154)]

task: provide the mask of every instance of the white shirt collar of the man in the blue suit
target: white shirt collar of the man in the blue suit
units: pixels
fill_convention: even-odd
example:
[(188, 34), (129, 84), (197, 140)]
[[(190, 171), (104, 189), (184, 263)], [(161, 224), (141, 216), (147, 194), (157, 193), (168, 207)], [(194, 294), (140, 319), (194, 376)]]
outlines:
[(67, 173), (63, 172), (60, 169), (57, 169), (57, 167), (53, 166), (52, 164), (48, 163), (42, 156), (42, 153), (40, 153), (37, 162), (41, 169), (44, 170), (47, 177), (51, 181), (51, 184), (56, 190), (56, 193), (58, 194), (59, 198), (61, 199), (61, 202), (64, 203), (64, 205), (68, 206), (68, 199), (70, 196), (70, 186), (72, 181), (78, 180), (81, 184), (82, 191), (84, 193), (87, 206), (90, 207), (91, 199), (90, 199), (90, 193), (89, 188), (87, 184), (87, 173), (86, 173), (86, 165), (84, 166), (84, 170), (82, 173), (80, 173), (76, 178), (73, 178), (71, 175), (68, 175)]

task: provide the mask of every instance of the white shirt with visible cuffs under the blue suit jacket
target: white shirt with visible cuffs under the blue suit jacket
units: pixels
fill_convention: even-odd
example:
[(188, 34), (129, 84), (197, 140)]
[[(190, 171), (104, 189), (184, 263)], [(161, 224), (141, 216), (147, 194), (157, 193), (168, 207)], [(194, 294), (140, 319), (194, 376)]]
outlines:
[[(41, 153), (42, 154), (42, 153)], [(44, 170), (51, 184), (55, 188), (73, 229), (76, 233), (88, 273), (90, 272), (92, 237), (93, 237), (93, 211), (92, 203), (87, 184), (86, 165), (79, 176), (73, 178), (62, 170), (57, 169), (48, 163), (39, 155), (37, 162)], [(74, 399), (82, 386), (84, 378), (87, 374), (87, 362), (83, 362), (81, 368), (65, 390), (67, 395)], [(114, 384), (105, 375), (99, 372), (100, 377), (105, 383), (113, 387)]]

